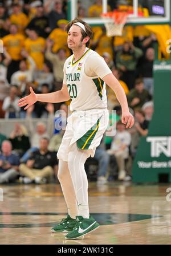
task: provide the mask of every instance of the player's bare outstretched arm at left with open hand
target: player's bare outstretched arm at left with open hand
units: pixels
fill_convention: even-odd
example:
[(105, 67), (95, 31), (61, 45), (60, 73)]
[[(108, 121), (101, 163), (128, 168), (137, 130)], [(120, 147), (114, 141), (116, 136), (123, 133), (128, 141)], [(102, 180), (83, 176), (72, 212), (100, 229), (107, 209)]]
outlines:
[(49, 94), (35, 94), (30, 87), (30, 94), (26, 97), (23, 97), (18, 101), (19, 107), (25, 107), (25, 109), (29, 108), (36, 101), (42, 101), (47, 103), (58, 103), (67, 101), (70, 99), (70, 95), (68, 93), (68, 88), (66, 84), (63, 84), (63, 87), (60, 91), (50, 92)]

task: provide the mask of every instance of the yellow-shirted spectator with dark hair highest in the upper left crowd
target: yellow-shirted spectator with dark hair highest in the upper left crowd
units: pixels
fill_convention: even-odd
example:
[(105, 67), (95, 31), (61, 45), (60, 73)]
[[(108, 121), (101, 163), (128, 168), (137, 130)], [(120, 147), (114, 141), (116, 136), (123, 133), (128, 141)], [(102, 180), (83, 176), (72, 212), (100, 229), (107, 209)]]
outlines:
[(12, 10), (13, 13), (10, 15), (10, 22), (18, 25), (19, 32), (23, 34), (24, 29), (28, 24), (27, 15), (22, 13), (19, 3), (13, 3)]

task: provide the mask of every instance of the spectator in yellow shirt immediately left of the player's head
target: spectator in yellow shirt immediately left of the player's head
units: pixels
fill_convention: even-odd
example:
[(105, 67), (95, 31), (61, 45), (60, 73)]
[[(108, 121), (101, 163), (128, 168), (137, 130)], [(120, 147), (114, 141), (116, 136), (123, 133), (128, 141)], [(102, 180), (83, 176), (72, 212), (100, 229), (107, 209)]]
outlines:
[(64, 48), (66, 50), (67, 56), (70, 56), (70, 50), (68, 50), (67, 44), (68, 34), (65, 31), (67, 23), (68, 21), (66, 19), (60, 19), (57, 22), (58, 28), (54, 29), (48, 38), (54, 42), (52, 52), (56, 53), (60, 48)]

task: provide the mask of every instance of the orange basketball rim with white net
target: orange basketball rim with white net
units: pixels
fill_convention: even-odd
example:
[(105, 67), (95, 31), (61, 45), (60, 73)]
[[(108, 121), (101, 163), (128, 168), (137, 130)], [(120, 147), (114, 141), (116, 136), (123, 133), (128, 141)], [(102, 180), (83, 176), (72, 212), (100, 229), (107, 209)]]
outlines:
[(127, 11), (110, 11), (109, 13), (102, 13), (107, 36), (123, 35), (123, 27), (127, 21), (129, 12)]

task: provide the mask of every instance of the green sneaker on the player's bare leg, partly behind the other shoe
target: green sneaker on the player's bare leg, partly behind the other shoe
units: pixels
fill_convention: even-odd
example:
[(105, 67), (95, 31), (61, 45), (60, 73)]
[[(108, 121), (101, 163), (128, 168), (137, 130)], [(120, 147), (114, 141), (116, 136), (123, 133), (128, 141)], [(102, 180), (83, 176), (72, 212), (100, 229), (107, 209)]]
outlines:
[(76, 223), (77, 221), (75, 219), (72, 219), (68, 214), (66, 218), (63, 218), (62, 221), (60, 221), (59, 224), (52, 227), (51, 232), (52, 233), (68, 233), (74, 229)]

